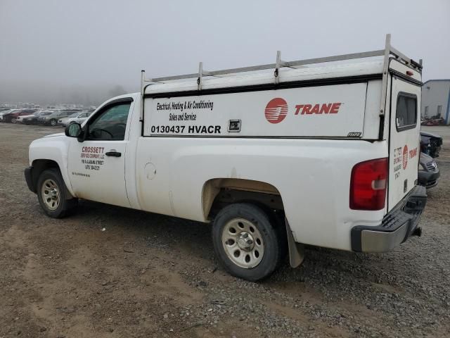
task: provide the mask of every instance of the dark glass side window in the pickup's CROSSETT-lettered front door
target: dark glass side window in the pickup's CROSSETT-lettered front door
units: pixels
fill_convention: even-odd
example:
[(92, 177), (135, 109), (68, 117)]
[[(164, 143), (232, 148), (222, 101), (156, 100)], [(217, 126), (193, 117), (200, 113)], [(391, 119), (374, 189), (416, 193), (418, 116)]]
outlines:
[(107, 108), (89, 125), (88, 139), (123, 140), (130, 103)]

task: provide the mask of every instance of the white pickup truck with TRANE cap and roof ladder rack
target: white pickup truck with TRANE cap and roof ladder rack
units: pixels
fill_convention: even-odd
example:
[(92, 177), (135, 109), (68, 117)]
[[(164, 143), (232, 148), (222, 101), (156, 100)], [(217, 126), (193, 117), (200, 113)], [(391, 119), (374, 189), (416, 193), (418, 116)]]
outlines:
[(83, 125), (30, 145), (45, 213), (78, 199), (212, 223), (217, 258), (247, 280), (304, 244), (389, 251), (425, 207), (417, 185), (421, 62), (390, 44), (344, 56), (146, 80)]

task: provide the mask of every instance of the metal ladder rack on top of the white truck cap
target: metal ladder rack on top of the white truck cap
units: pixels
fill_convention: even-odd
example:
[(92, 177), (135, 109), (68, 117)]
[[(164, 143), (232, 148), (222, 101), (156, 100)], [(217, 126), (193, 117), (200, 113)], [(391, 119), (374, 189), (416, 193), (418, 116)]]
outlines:
[(184, 74), (184, 75), (174, 75), (167, 77), (155, 77), (153, 79), (146, 79), (145, 70), (141, 70), (141, 95), (144, 94), (145, 89), (150, 84), (155, 83), (165, 83), (166, 81), (172, 80), (183, 80), (183, 79), (192, 79), (197, 78), (198, 90), (202, 90), (203, 77), (218, 77), (220, 75), (227, 74), (236, 74), (236, 73), (245, 73), (252, 72), (256, 70), (266, 70), (266, 69), (274, 69), (274, 83), (278, 84), (280, 79), (278, 77), (279, 69), (283, 67), (288, 68), (301, 68), (304, 65), (311, 65), (314, 63), (326, 63), (326, 62), (334, 62), (334, 61), (345, 61), (352, 60), (357, 58), (371, 58), (374, 56), (384, 56), (383, 63), (383, 85), (382, 85), (382, 99), (380, 103), (380, 115), (384, 115), (384, 107), (386, 100), (386, 89), (387, 89), (387, 68), (389, 68), (389, 59), (391, 56), (394, 56), (398, 61), (404, 63), (405, 65), (410, 66), (411, 68), (418, 70), (418, 72), (422, 72), (422, 60), (419, 62), (414, 61), (411, 58), (408, 58), (400, 51), (391, 46), (391, 35), (386, 35), (385, 40), (385, 49), (380, 49), (377, 51), (365, 51), (362, 53), (353, 53), (353, 54), (344, 54), (344, 55), (336, 55), (336, 56), (327, 56), (324, 58), (308, 58), (306, 60), (298, 60), (298, 61), (282, 61), (281, 60), (281, 51), (277, 51), (276, 53), (276, 63), (268, 63), (265, 65), (253, 65), (250, 67), (242, 67), (242, 68), (230, 68), (224, 70), (214, 70), (207, 71), (203, 70), (203, 62), (198, 64), (198, 73), (192, 74)]

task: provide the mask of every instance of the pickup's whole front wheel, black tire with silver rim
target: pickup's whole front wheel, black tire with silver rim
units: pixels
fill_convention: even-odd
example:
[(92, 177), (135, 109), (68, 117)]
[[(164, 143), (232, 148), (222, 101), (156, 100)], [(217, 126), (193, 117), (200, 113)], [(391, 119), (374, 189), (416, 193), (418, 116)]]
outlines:
[(37, 198), (46, 215), (63, 218), (77, 206), (77, 199), (67, 199), (63, 177), (56, 168), (44, 170), (37, 180)]

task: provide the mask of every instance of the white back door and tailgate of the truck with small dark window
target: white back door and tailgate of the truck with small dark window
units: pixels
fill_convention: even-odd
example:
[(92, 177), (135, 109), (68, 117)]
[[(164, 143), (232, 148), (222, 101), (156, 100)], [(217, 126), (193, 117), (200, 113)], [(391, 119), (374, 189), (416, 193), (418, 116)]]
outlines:
[(390, 211), (417, 182), (420, 155), (420, 87), (392, 75), (390, 109)]

